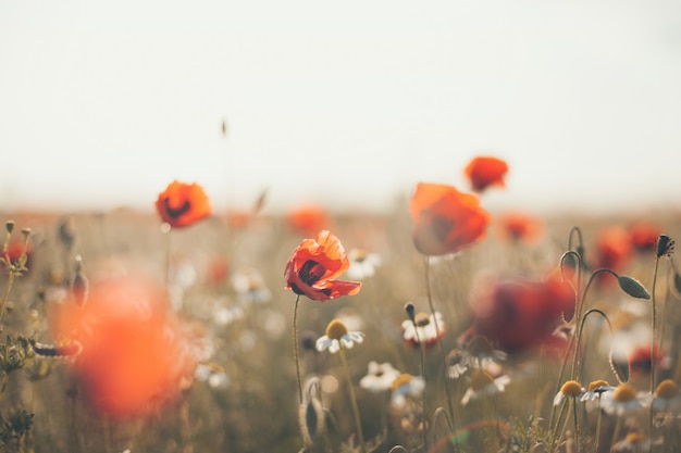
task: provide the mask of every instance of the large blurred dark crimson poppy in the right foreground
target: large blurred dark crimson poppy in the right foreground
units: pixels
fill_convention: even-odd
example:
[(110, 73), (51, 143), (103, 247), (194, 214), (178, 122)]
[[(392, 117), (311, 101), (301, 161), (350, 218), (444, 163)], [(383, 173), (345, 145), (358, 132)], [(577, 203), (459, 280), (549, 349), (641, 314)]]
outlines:
[(574, 291), (559, 277), (486, 281), (472, 297), (473, 331), (516, 353), (565, 347), (556, 330), (574, 312)]

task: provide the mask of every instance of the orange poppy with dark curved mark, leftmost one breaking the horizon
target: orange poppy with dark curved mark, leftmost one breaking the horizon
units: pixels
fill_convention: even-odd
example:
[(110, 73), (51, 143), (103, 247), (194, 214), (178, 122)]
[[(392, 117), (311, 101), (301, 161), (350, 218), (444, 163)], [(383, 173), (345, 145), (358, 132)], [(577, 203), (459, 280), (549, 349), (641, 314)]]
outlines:
[(208, 196), (201, 186), (177, 180), (159, 193), (156, 209), (161, 219), (174, 228), (193, 225), (212, 213)]

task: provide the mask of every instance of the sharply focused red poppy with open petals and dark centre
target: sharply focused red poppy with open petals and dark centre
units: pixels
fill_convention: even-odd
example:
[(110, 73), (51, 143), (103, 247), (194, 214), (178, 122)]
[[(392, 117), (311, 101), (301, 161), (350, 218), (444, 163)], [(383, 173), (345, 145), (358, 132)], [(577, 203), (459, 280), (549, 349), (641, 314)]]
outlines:
[(350, 267), (340, 241), (326, 230), (317, 240), (305, 239), (286, 263), (286, 289), (315, 301), (327, 301), (359, 292), (359, 281), (335, 280)]

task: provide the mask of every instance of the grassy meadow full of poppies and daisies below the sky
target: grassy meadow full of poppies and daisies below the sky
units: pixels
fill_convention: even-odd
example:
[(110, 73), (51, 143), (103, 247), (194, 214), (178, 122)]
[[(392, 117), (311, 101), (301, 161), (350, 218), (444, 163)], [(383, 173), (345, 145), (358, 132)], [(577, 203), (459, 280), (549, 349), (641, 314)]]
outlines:
[(681, 451), (678, 212), (410, 203), (2, 213), (0, 450)]

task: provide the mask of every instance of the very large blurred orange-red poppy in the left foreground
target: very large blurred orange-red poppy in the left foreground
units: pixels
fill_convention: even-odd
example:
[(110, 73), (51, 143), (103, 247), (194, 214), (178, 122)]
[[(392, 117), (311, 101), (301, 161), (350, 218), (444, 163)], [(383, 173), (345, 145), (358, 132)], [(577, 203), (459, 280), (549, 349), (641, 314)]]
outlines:
[(140, 416), (179, 394), (195, 369), (187, 336), (162, 287), (125, 276), (90, 285), (83, 307), (54, 307), (54, 336), (78, 342), (72, 370), (86, 402), (112, 416)]

